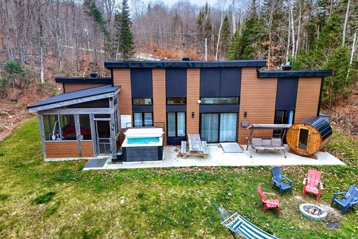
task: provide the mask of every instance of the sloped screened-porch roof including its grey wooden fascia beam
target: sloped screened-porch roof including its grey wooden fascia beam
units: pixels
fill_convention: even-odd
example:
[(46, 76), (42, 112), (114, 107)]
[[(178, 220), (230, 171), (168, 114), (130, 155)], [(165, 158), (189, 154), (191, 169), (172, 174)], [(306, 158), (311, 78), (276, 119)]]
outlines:
[(113, 97), (120, 92), (120, 86), (103, 85), (92, 87), (85, 90), (76, 90), (74, 92), (65, 92), (46, 98), (43, 101), (28, 106), (29, 112), (38, 112), (42, 110), (50, 110), (66, 105), (74, 105), (87, 101), (95, 101), (101, 98)]

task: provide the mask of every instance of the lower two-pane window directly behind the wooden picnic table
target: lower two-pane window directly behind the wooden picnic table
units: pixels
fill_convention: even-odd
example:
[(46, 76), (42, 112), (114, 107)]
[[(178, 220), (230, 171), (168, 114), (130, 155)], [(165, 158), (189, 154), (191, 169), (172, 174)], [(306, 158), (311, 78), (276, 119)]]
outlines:
[(185, 112), (167, 113), (168, 137), (185, 137)]

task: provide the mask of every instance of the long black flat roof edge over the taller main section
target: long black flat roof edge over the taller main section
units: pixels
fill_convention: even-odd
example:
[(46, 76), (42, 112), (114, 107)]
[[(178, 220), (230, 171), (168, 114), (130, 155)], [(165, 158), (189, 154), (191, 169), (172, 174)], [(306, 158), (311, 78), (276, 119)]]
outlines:
[(265, 60), (243, 61), (105, 61), (112, 68), (198, 68), (198, 67), (264, 67)]

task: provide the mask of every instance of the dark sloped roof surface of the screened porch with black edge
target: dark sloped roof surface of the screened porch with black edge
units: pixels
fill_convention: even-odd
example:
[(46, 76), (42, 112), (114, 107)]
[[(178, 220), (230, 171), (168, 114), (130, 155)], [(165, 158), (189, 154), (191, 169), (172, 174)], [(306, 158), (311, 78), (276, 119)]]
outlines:
[(50, 98), (46, 98), (43, 101), (39, 101), (34, 103), (33, 105), (28, 106), (28, 109), (33, 109), (43, 105), (52, 105), (55, 103), (61, 103), (64, 101), (72, 101), (78, 98), (85, 98), (89, 96), (96, 96), (98, 94), (106, 94), (112, 93), (120, 90), (120, 86), (112, 86), (112, 85), (103, 85), (98, 87), (92, 87), (85, 90), (76, 90), (74, 92), (65, 92), (62, 94), (58, 94), (56, 96), (52, 96)]

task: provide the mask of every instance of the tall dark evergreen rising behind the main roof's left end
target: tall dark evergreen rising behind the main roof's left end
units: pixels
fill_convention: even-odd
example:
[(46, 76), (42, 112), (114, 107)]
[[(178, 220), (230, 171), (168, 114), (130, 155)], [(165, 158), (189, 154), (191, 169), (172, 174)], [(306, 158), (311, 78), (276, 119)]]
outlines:
[(122, 1), (122, 12), (116, 15), (116, 36), (118, 38), (118, 52), (121, 59), (129, 61), (134, 59), (134, 41), (131, 32), (131, 19), (128, 0)]

